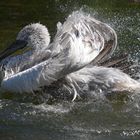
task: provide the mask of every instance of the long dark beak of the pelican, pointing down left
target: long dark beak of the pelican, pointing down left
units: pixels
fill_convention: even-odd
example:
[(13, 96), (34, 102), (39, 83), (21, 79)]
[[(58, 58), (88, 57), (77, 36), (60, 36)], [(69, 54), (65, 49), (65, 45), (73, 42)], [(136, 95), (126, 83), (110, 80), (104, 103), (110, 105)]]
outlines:
[(9, 55), (13, 54), (14, 52), (16, 52), (16, 51), (18, 51), (20, 49), (25, 48), (26, 45), (27, 45), (27, 42), (26, 41), (16, 40), (9, 47), (7, 47), (5, 50), (3, 50), (0, 53), (0, 61), (2, 61), (3, 59), (5, 59)]

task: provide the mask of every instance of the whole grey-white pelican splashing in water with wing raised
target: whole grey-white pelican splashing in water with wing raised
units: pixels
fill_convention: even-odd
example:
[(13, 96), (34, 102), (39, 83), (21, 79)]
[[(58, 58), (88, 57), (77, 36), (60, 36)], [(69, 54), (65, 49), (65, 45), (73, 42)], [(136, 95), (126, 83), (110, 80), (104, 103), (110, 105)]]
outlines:
[[(73, 100), (98, 89), (139, 91), (140, 83), (129, 75), (98, 65), (110, 58), (116, 46), (115, 31), (81, 11), (57, 24), (51, 43), (46, 26), (27, 25), (16, 41), (0, 53), (1, 89), (16, 93), (34, 93), (43, 88), (47, 93), (68, 91)], [(23, 54), (12, 56), (23, 49)]]

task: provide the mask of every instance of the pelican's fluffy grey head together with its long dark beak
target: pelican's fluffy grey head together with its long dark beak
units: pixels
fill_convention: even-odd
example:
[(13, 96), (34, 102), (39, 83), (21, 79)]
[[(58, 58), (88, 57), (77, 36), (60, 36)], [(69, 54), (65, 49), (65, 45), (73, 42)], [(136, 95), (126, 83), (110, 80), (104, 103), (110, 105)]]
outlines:
[(30, 48), (37, 51), (46, 48), (49, 43), (50, 35), (46, 26), (40, 23), (27, 25), (18, 33), (16, 40), (0, 53), (0, 61), (20, 49)]

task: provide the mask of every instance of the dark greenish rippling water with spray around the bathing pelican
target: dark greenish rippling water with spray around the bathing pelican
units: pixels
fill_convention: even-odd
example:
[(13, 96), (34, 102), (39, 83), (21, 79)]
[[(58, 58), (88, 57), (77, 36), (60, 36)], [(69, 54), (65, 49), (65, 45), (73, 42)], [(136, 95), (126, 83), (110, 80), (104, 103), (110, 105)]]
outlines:
[[(132, 0), (18, 0), (0, 1), (0, 47), (8, 46), (25, 25), (40, 22), (51, 36), (56, 23), (80, 8), (111, 25), (118, 49), (133, 59), (140, 55), (140, 4)], [(54, 102), (34, 105), (0, 99), (0, 140), (139, 140), (140, 95), (127, 98)]]

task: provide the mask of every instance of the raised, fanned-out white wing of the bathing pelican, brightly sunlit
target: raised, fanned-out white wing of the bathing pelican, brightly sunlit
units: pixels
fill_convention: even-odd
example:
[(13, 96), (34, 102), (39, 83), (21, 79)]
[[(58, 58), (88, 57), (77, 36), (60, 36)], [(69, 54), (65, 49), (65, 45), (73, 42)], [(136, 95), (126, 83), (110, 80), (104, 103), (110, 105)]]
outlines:
[[(52, 50), (56, 52), (68, 50), (72, 67), (76, 70), (95, 58), (99, 60), (98, 56), (102, 56), (100, 59), (105, 55), (108, 57), (116, 48), (116, 42), (113, 42), (114, 45), (111, 44), (110, 47), (107, 46), (111, 40), (116, 41), (116, 34), (111, 27), (90, 15), (77, 11), (73, 12), (63, 25), (59, 25)], [(106, 53), (100, 55), (107, 49)]]

